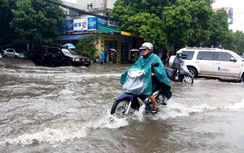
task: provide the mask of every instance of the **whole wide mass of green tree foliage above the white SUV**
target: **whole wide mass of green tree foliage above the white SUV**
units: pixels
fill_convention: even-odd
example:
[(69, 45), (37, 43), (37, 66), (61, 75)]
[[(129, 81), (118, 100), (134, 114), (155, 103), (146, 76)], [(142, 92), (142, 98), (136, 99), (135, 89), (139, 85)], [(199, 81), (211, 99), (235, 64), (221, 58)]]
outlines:
[(120, 30), (163, 48), (233, 44), (226, 12), (213, 12), (211, 3), (213, 0), (117, 0), (109, 17)]

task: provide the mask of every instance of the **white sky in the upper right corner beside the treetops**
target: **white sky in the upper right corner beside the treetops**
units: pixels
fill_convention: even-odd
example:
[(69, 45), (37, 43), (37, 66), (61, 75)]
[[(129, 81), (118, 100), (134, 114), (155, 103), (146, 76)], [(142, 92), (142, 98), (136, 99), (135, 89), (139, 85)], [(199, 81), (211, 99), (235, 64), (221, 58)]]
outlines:
[(229, 25), (229, 28), (234, 32), (236, 30), (244, 32), (244, 0), (216, 0), (212, 7), (232, 7), (234, 23)]

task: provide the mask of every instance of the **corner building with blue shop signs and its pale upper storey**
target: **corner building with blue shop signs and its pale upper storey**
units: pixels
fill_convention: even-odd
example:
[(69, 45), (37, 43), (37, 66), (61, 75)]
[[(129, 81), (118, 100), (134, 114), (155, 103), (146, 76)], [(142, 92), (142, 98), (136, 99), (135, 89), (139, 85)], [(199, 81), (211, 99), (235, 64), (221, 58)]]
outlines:
[[(79, 10), (85, 9), (84, 11), (87, 12), (107, 16), (115, 0), (91, 0), (87, 1), (87, 3), (86, 0), (82, 0), (82, 2), (73, 0), (73, 2), (76, 3), (64, 2), (64, 4)], [(112, 49), (116, 50), (116, 62), (132, 62), (133, 53), (131, 49), (140, 47), (142, 43), (141, 38), (133, 36), (131, 33), (118, 30), (116, 23), (113, 21), (101, 19), (96, 15), (75, 12), (72, 9), (64, 9), (67, 15), (66, 25), (62, 30), (63, 43), (69, 42), (76, 44), (85, 35), (100, 33), (101, 38), (94, 43), (98, 50), (96, 53), (97, 57), (99, 57), (102, 50), (107, 49), (111, 53)]]

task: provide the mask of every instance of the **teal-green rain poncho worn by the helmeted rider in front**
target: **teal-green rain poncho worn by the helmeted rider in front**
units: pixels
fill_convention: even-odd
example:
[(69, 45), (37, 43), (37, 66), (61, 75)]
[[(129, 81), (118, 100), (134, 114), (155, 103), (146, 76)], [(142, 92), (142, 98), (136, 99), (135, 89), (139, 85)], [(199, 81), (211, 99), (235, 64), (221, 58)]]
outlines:
[(142, 94), (151, 95), (152, 94), (152, 63), (159, 63), (158, 67), (154, 67), (154, 73), (157, 76), (158, 81), (161, 83), (160, 87), (162, 88), (163, 94), (166, 98), (170, 98), (172, 95), (171, 86), (166, 74), (166, 70), (161, 59), (154, 53), (151, 53), (147, 57), (141, 56), (135, 64), (133, 64), (128, 70), (124, 71), (120, 78), (120, 83), (123, 85), (126, 81), (126, 77), (129, 71), (131, 70), (145, 70), (146, 75), (146, 88)]

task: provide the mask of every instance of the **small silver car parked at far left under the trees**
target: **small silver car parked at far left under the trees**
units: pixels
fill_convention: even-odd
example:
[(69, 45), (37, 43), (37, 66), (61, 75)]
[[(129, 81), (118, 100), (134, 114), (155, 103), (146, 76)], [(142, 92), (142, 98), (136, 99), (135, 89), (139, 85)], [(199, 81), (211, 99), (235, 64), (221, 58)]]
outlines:
[(29, 58), (29, 55), (26, 51), (24, 51), (23, 49), (20, 48), (7, 48), (4, 50), (3, 52), (3, 57), (6, 58)]

